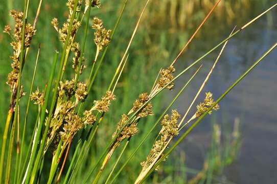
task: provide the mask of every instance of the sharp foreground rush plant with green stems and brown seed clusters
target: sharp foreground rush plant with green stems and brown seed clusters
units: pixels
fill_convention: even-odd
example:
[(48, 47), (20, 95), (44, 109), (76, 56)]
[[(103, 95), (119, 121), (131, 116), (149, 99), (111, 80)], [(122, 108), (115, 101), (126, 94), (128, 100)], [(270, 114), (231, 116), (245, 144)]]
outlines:
[[(137, 21), (133, 34), (130, 38), (127, 49), (125, 50), (124, 55), (119, 62), (118, 68), (111, 79), (110, 85), (106, 90), (106, 94), (103, 95), (101, 99), (95, 100), (93, 103), (91, 103), (89, 109), (83, 109), (84, 102), (87, 100), (87, 96), (90, 94), (91, 88), (94, 86), (93, 84), (98, 72), (100, 71), (101, 63), (104, 60), (109, 43), (110, 41), (112, 41), (114, 32), (119, 25), (127, 2), (128, 0), (124, 2), (120, 16), (112, 31), (104, 28), (104, 23), (100, 18), (93, 17), (92, 20), (90, 18), (91, 8), (101, 7), (101, 2), (99, 0), (68, 0), (66, 3), (66, 6), (68, 8), (68, 17), (66, 21), (62, 24), (61, 28), (59, 28), (58, 19), (53, 18), (51, 23), (59, 35), (59, 40), (62, 43), (62, 51), (60, 55), (58, 52), (54, 53), (51, 74), (47, 85), (45, 85), (45, 88), (37, 88), (33, 92), (32, 90), (36, 74), (35, 67), (32, 85), (30, 88), (30, 94), (28, 96), (27, 110), (24, 117), (23, 133), (21, 139), (19, 136), (17, 136), (16, 139), (17, 151), (15, 164), (12, 164), (12, 162), (14, 162), (13, 147), (16, 132), (15, 127), (17, 126), (17, 134), (19, 135), (19, 124), (21, 120), (19, 109), (20, 106), (24, 105), (20, 104), (20, 98), (25, 96), (25, 92), (21, 84), (21, 74), (22, 70), (24, 69), (25, 62), (28, 61), (28, 52), (29, 49), (31, 49), (31, 40), (36, 31), (39, 31), (35, 29), (35, 25), (36, 21), (39, 19), (38, 16), (41, 9), (42, 0), (39, 3), (37, 15), (35, 17), (33, 26), (28, 23), (29, 0), (25, 0), (24, 12), (18, 12), (15, 10), (10, 11), (10, 15), (15, 19), (15, 25), (13, 29), (11, 28), (11, 26), (6, 26), (4, 32), (11, 36), (11, 45), (14, 52), (11, 56), (11, 59), (13, 61), (11, 65), (12, 71), (8, 75), (7, 82), (7, 84), (10, 86), (11, 98), (5, 130), (3, 134), (0, 160), (1, 182), (5, 181), (6, 183), (39, 183), (42, 175), (48, 177), (48, 183), (76, 182), (76, 175), (80, 171), (82, 165), (85, 165), (88, 150), (91, 149), (91, 143), (93, 143), (95, 139), (97, 139), (95, 135), (98, 129), (101, 128), (101, 123), (105, 118), (105, 113), (109, 112), (110, 104), (112, 103), (112, 101), (116, 100), (116, 87), (121, 78), (122, 71), (124, 70), (126, 63), (128, 62), (128, 52), (130, 45), (140, 25), (143, 13), (147, 8), (150, 0), (146, 2), (145, 7), (141, 12), (139, 20)], [(187, 49), (189, 43), (193, 40), (197, 32), (202, 28), (205, 21), (207, 21), (207, 19), (212, 15), (219, 3), (220, 0), (216, 2), (211, 11), (206, 15), (199, 27), (196, 29), (195, 33), (189, 39), (187, 44), (184, 45), (183, 49), (173, 60), (173, 62), (168, 67), (160, 70), (151, 91), (149, 93), (141, 93), (139, 97), (133, 102), (133, 106), (129, 110), (129, 112), (123, 113), (121, 118), (119, 117), (116, 130), (114, 130), (114, 133), (109, 138), (110, 141), (105, 147), (102, 155), (99, 157), (98, 160), (96, 160), (96, 164), (93, 166), (93, 168), (91, 168), (91, 170), (89, 170), (88, 175), (84, 177), (84, 182), (92, 181), (93, 183), (98, 183), (113, 153), (118, 150), (121, 144), (125, 144), (120, 153), (120, 156), (113, 164), (113, 168), (105, 181), (105, 183), (114, 182), (119, 176), (120, 172), (128, 164), (131, 157), (135, 155), (142, 144), (147, 140), (147, 137), (155, 129), (156, 125), (160, 122), (161, 129), (159, 131), (159, 134), (156, 137), (156, 140), (154, 141), (152, 149), (149, 151), (149, 155), (147, 156), (146, 160), (141, 163), (142, 171), (140, 172), (139, 176), (137, 176), (134, 183), (142, 183), (143, 181), (145, 181), (147, 177), (153, 172), (153, 170), (158, 168), (161, 162), (163, 162), (167, 158), (172, 150), (192, 131), (192, 129), (207, 114), (211, 114), (213, 110), (219, 109), (218, 103), (228, 94), (228, 92), (232, 90), (257, 64), (259, 64), (277, 46), (277, 43), (275, 43), (259, 60), (255, 62), (255, 64), (249, 67), (249, 69), (217, 100), (214, 100), (212, 98), (212, 93), (207, 92), (205, 94), (206, 97), (204, 101), (196, 106), (194, 115), (186, 123), (184, 123), (188, 112), (191, 110), (195, 100), (198, 98), (205, 83), (210, 78), (215, 65), (220, 59), (220, 56), (225, 49), (227, 41), (277, 5), (273, 5), (268, 10), (261, 13), (256, 18), (250, 20), (245, 26), (233, 33), (233, 31), (235, 30), (234, 29), (230, 36), (228, 36), (226, 39), (216, 45), (216, 47), (211, 49), (209, 52), (204, 54), (202, 57), (197, 59), (195, 62), (193, 62), (191, 65), (189, 65), (187, 68), (185, 68), (174, 77), (175, 62), (177, 62), (180, 55)], [(86, 36), (90, 20), (92, 22), (91, 28), (94, 31), (94, 42), (96, 44), (96, 51), (95, 57), (93, 59), (88, 58), (88, 61), (93, 62), (93, 66), (90, 68), (88, 82), (82, 82), (79, 80), (79, 76), (82, 74), (83, 70), (86, 70), (86, 66), (84, 64), (86, 62), (84, 49), (86, 41), (89, 40), (86, 38)], [(78, 34), (79, 29), (82, 27), (82, 24), (85, 24), (83, 40), (81, 43), (79, 43), (76, 40), (76, 35)], [(13, 32), (11, 32), (12, 30)], [(132, 137), (139, 134), (139, 129), (137, 128), (137, 125), (142, 121), (142, 119), (154, 114), (152, 110), (152, 100), (156, 98), (157, 95), (161, 91), (164, 91), (164, 89), (166, 88), (169, 90), (173, 90), (174, 82), (176, 81), (176, 79), (186, 73), (192, 66), (198, 64), (205, 56), (209, 55), (211, 52), (219, 48), (220, 45), (223, 45), (223, 47), (218, 55), (218, 58), (216, 59), (209, 74), (207, 74), (206, 79), (203, 81), (198, 90), (198, 93), (196, 94), (189, 109), (184, 114), (182, 119), (179, 121), (181, 116), (177, 110), (172, 110), (171, 116), (166, 113), (169, 108), (175, 103), (176, 99), (181, 95), (182, 91), (188, 87), (202, 65), (187, 81), (187, 83), (184, 84), (183, 88), (172, 100), (166, 110), (153, 124), (153, 127), (150, 129), (147, 135), (143, 137), (143, 140), (139, 144), (139, 146), (137, 146), (132, 154), (126, 159), (125, 163), (121, 166), (116, 175), (113, 176), (113, 171), (116, 170), (117, 165), (119, 164), (119, 160), (127, 149), (129, 142), (132, 141)], [(35, 66), (37, 66), (39, 52), (40, 49), (38, 49), (37, 52)], [(100, 53), (102, 55), (100, 60), (98, 60)], [(74, 77), (72, 79), (66, 80), (64, 79), (64, 73), (66, 70), (68, 70), (68, 61), (70, 60), (72, 60), (71, 65)], [(59, 65), (57, 67), (58, 61)], [(58, 71), (55, 75), (56, 67), (58, 68)], [(30, 101), (33, 101), (33, 103), (38, 106), (35, 127), (27, 126)], [(190, 122), (193, 123), (189, 126)], [(188, 129), (184, 133), (181, 133), (180, 130), (183, 127), (188, 127)], [(30, 142), (28, 150), (24, 150), (22, 149), (22, 146), (19, 146), (20, 142), (22, 144), (26, 141), (26, 129), (33, 129), (32, 140)], [(7, 150), (6, 144), (8, 141), (8, 135), (10, 135), (10, 137), (9, 147)], [(179, 138), (173, 145), (170, 146), (171, 140), (177, 135), (179, 135)], [(72, 157), (72, 159), (69, 159), (68, 153), (71, 149), (73, 149), (72, 143), (74, 140), (77, 141), (77, 144), (74, 145), (74, 156)], [(50, 171), (45, 172), (45, 170), (43, 169), (43, 164), (45, 162), (48, 162), (48, 160), (45, 159), (45, 154), (50, 151), (50, 147), (54, 148), (54, 152), (52, 153), (52, 163)], [(22, 152), (24, 152), (24, 154)], [(23, 158), (24, 156), (26, 156), (25, 159)], [(70, 166), (68, 168), (65, 167), (66, 162), (70, 162)], [(99, 165), (101, 162), (102, 164)], [(6, 168), (5, 177), (4, 168)], [(95, 172), (97, 170), (98, 172)], [(14, 171), (13, 175), (11, 175), (11, 171)], [(13, 177), (11, 178), (11, 176)]]

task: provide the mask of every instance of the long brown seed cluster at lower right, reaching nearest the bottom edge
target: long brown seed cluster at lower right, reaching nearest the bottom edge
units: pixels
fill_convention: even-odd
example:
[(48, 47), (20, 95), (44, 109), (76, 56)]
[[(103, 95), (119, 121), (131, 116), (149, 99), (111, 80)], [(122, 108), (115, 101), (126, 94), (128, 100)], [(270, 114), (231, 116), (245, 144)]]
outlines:
[(152, 149), (150, 150), (149, 155), (147, 156), (146, 160), (141, 163), (143, 169), (145, 171), (148, 169), (150, 165), (157, 161), (158, 157), (161, 156), (161, 151), (164, 150), (167, 141), (178, 135), (178, 119), (180, 118), (180, 114), (177, 110), (172, 110), (171, 117), (168, 114), (164, 117), (161, 121), (161, 128), (160, 131), (160, 139), (157, 140)]

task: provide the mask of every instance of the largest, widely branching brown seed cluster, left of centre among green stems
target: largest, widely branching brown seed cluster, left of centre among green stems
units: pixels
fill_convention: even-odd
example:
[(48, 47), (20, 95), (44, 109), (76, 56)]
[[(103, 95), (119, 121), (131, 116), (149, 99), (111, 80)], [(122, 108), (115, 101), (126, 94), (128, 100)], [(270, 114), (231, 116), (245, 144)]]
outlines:
[[(83, 117), (76, 114), (76, 106), (79, 101), (86, 98), (87, 91), (86, 84), (83, 82), (78, 82), (77, 88), (74, 90), (74, 82), (75, 80), (72, 79), (59, 83), (57, 105), (50, 122), (47, 147), (56, 137), (57, 132), (59, 132), (58, 138), (66, 145), (84, 125), (93, 125), (96, 121), (96, 116), (91, 111), (84, 111)], [(71, 100), (73, 97), (76, 98), (75, 102)], [(62, 130), (60, 130), (61, 128)]]

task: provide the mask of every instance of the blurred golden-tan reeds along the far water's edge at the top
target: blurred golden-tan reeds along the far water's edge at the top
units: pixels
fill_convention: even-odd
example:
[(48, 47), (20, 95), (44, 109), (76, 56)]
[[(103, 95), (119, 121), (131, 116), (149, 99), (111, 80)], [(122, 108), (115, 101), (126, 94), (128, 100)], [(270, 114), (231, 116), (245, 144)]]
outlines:
[[(139, 1), (133, 1), (137, 4)], [(234, 0), (223, 1), (218, 5), (217, 11), (214, 12), (213, 19), (215, 21), (226, 21), (232, 23), (238, 20), (240, 16), (247, 16), (249, 10), (255, 10), (255, 7), (265, 5), (268, 1)], [(184, 1), (153, 1), (146, 12), (146, 16), (152, 20), (151, 29), (161, 29), (161, 25), (168, 26), (172, 32), (186, 30), (195, 26), (195, 21), (201, 19), (214, 6), (216, 0), (184, 0)], [(243, 7), (244, 11), (240, 11)], [(159, 19), (157, 23), (155, 20)]]

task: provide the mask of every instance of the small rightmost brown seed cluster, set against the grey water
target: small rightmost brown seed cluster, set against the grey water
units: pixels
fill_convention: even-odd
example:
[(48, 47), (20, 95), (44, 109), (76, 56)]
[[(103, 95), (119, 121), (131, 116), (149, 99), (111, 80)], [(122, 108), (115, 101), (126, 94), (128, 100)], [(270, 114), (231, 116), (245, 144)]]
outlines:
[[(195, 116), (198, 118), (200, 117), (207, 109), (209, 109), (214, 104), (213, 94), (211, 92), (207, 92), (206, 97), (204, 99), (204, 102), (201, 102), (199, 105), (197, 105), (197, 111), (195, 113)], [(219, 105), (216, 104), (215, 107), (213, 107), (213, 110), (218, 110)], [(209, 114), (212, 114), (212, 110), (209, 111)]]

